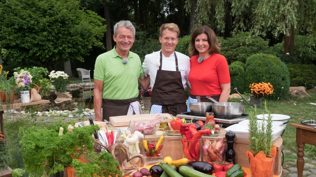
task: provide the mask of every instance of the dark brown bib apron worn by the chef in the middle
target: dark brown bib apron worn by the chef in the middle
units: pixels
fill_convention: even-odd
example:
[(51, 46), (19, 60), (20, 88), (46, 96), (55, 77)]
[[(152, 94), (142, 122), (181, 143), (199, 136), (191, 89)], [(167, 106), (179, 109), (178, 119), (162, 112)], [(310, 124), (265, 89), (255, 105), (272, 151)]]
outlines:
[(174, 52), (176, 71), (161, 70), (162, 52), (160, 51), (160, 66), (151, 93), (151, 104), (161, 105), (162, 113), (172, 115), (186, 111), (185, 89), (182, 84), (181, 72), (178, 68), (178, 58)]

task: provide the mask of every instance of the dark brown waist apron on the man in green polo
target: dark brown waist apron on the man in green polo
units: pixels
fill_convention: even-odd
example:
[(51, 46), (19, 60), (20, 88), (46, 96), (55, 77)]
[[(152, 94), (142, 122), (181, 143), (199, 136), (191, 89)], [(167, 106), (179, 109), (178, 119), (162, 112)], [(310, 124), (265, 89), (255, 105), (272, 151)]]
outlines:
[(110, 121), (109, 117), (125, 116), (130, 108), (130, 103), (134, 101), (137, 101), (137, 97), (125, 100), (102, 99), (102, 120)]

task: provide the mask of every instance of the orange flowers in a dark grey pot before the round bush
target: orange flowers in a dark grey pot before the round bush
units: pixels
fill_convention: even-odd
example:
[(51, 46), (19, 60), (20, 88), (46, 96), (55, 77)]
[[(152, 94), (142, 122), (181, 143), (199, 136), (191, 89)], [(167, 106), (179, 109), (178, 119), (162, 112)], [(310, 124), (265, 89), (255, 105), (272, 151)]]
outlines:
[(249, 86), (252, 95), (250, 95), (250, 104), (252, 107), (255, 105), (261, 107), (262, 99), (267, 95), (273, 94), (273, 87), (270, 83), (252, 83)]

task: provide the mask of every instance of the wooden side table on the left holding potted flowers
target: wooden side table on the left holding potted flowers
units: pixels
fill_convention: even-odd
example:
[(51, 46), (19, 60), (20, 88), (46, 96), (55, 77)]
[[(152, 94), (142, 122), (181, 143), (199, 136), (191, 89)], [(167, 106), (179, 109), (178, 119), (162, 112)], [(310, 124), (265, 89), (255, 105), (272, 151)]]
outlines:
[[(6, 110), (11, 110), (11, 109), (20, 109), (21, 106), (29, 106), (29, 105), (39, 105), (39, 104), (43, 104), (43, 103), (49, 103), (49, 100), (40, 100), (40, 101), (32, 101), (29, 103), (22, 103), (21, 101), (18, 100), (14, 100), (13, 103), (11, 104), (2, 104), (0, 105), (0, 130), (3, 134), (3, 136), (5, 136), (4, 134), (4, 125), (3, 125), (3, 112)], [(6, 138), (4, 137), (4, 139), (0, 140), (0, 141), (5, 141)]]

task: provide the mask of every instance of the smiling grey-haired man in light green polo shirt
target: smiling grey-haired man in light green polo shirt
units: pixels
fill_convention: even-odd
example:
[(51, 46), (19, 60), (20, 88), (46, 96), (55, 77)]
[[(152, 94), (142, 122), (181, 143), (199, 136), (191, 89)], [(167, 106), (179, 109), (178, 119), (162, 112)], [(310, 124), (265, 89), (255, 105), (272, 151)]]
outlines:
[[(109, 117), (141, 114), (137, 101), (138, 83), (148, 88), (139, 56), (130, 51), (135, 40), (135, 28), (130, 21), (114, 25), (116, 46), (100, 54), (94, 66), (95, 120), (109, 121)], [(101, 116), (102, 105), (102, 116)]]

